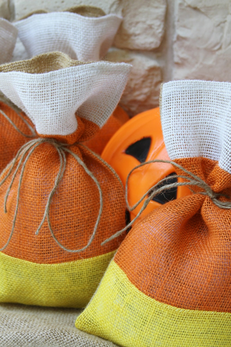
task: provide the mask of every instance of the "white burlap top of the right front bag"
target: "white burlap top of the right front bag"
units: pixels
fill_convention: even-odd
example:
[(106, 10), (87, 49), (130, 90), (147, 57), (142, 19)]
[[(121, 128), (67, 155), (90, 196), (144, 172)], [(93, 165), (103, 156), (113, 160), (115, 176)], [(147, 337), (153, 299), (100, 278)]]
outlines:
[(231, 83), (171, 81), (163, 84), (161, 123), (169, 157), (219, 161), (231, 174)]

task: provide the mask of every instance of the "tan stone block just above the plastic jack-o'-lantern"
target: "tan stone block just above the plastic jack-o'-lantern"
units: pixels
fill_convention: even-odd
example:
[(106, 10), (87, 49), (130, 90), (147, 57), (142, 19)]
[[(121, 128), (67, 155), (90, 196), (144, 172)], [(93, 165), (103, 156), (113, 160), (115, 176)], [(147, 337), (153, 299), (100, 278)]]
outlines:
[(106, 55), (109, 61), (124, 61), (133, 65), (120, 105), (134, 116), (159, 105), (161, 68), (156, 59), (142, 53), (113, 49)]

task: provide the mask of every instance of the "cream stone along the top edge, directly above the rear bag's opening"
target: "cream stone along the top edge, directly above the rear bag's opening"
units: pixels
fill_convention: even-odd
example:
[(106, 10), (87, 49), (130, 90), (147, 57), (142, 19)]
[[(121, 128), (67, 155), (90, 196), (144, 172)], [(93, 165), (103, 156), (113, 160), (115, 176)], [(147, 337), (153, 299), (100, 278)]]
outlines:
[(62, 11), (75, 6), (95, 6), (99, 7), (106, 14), (121, 14), (119, 0), (15, 0), (15, 19), (18, 20), (37, 10), (45, 10), (48, 12)]

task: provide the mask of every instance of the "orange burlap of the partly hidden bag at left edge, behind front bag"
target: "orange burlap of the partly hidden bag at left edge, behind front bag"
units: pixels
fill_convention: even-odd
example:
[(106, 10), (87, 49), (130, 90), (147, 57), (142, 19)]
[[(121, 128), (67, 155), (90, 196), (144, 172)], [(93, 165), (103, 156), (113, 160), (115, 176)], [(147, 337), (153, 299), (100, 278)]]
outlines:
[[(21, 133), (28, 136), (32, 135), (26, 122), (18, 116), (17, 112), (0, 101), (0, 172), (14, 158), (19, 148), (31, 139), (20, 134), (1, 111), (10, 118)], [(31, 120), (23, 112), (20, 115), (33, 127)]]

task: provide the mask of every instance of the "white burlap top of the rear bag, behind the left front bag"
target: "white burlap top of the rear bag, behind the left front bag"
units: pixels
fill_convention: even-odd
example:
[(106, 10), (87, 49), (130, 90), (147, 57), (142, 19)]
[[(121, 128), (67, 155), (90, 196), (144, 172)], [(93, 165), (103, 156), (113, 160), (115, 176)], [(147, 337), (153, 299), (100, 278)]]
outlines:
[(34, 14), (14, 25), (29, 58), (61, 51), (75, 60), (96, 61), (103, 58), (112, 45), (121, 20), (114, 14), (95, 18), (51, 12)]

